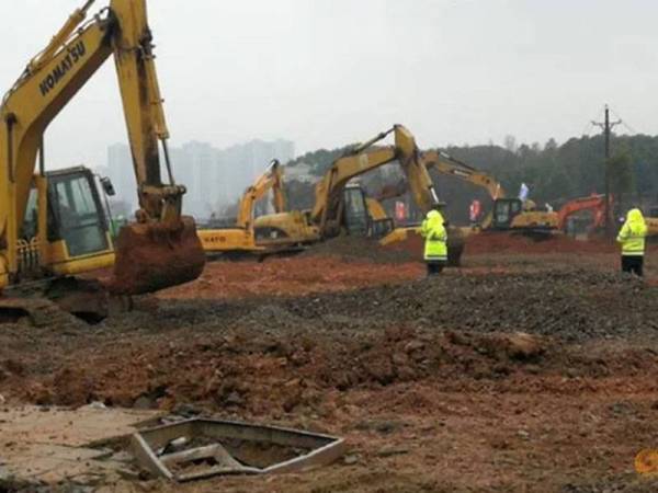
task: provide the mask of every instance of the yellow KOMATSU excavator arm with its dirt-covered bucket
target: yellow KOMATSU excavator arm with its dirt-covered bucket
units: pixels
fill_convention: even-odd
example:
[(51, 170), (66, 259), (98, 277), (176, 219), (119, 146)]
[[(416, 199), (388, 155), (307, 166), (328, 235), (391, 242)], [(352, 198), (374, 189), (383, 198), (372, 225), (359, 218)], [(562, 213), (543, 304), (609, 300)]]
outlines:
[[(69, 18), (30, 61), (0, 108), (0, 248), (3, 284), (19, 272), (16, 252), (36, 156), (48, 125), (114, 55), (138, 184), (137, 225), (117, 241), (110, 288), (140, 294), (196, 278), (205, 256), (191, 218), (181, 216), (185, 188), (173, 181), (162, 100), (156, 76), (146, 0), (111, 0), (86, 23), (94, 0)], [(72, 141), (80, 138), (71, 136)], [(162, 144), (168, 181), (160, 176)], [(44, 174), (44, 170), (39, 170)], [(43, 230), (44, 225), (41, 225)], [(44, 238), (43, 231), (39, 239)]]

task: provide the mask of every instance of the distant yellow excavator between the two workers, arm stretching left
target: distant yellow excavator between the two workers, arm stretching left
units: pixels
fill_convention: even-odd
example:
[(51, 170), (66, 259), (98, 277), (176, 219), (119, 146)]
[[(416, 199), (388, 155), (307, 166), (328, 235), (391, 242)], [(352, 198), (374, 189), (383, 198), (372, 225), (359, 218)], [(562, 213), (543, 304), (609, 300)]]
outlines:
[(478, 225), (479, 229), (492, 231), (519, 231), (527, 234), (549, 234), (558, 229), (558, 215), (537, 210), (532, 200), (507, 197), (501, 184), (489, 174), (479, 171), (443, 151), (428, 151), (422, 156), (428, 169), (457, 177), (485, 188), (494, 206)]

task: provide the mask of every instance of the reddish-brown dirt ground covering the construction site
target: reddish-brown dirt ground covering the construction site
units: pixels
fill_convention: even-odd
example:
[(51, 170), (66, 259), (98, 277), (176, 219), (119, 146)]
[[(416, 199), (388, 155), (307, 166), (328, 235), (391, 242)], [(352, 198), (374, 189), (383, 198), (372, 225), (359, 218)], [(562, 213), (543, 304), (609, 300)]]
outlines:
[(212, 263), (84, 330), (4, 326), (0, 394), (349, 443), (305, 473), (106, 491), (658, 491), (633, 466), (658, 448), (657, 252), (643, 282), (617, 273), (614, 245), (553, 241), (476, 236), (435, 279), (416, 239)]

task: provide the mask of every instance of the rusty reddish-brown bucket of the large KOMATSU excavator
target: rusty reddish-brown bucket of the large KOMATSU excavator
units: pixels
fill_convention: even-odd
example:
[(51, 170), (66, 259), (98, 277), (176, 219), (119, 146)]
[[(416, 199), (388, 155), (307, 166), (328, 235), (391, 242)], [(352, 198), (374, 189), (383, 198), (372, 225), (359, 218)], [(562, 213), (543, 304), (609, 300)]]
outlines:
[(174, 227), (132, 223), (116, 240), (114, 276), (107, 289), (115, 295), (144, 295), (196, 279), (205, 253), (191, 217)]

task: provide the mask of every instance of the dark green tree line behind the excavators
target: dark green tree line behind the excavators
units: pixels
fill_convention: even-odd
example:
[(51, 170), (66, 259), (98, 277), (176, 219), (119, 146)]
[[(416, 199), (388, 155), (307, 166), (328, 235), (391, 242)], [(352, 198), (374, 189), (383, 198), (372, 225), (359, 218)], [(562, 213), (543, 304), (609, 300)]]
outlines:
[[(345, 149), (308, 152), (287, 165), (305, 163), (309, 172), (319, 177)], [(648, 209), (658, 205), (658, 136), (613, 135), (609, 160), (605, 160), (602, 135), (570, 138), (561, 145), (549, 139), (544, 146), (517, 146), (514, 138), (508, 137), (503, 146), (449, 146), (441, 150), (492, 175), (508, 196), (518, 195), (521, 184), (525, 183), (530, 198), (540, 206), (549, 204), (557, 209), (571, 198), (603, 193), (606, 167), (611, 192), (620, 209), (636, 205)], [(386, 184), (385, 179), (384, 173), (368, 176), (366, 188), (374, 193)], [(490, 202), (483, 190), (456, 179), (434, 175), (433, 180), (455, 221), (467, 220), (468, 205), (474, 198), (485, 205)], [(287, 187), (291, 207), (307, 207), (313, 202), (308, 185), (287, 183)]]

